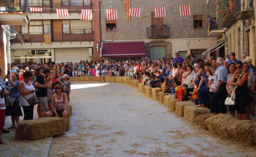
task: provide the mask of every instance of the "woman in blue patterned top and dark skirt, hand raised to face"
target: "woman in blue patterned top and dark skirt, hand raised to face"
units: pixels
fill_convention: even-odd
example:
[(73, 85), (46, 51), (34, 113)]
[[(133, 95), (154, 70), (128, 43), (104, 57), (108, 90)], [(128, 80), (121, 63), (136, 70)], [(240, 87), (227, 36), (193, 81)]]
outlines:
[(8, 81), (5, 82), (6, 89), (9, 91), (9, 96), (7, 99), (11, 102), (10, 106), (6, 107), (6, 116), (12, 117), (12, 126), (8, 129), (16, 128), (16, 124), (20, 121), (20, 116), (22, 115), (21, 108), (19, 106), (20, 102), (20, 93), (19, 93), (19, 84), (20, 81), (17, 80), (19, 78), (19, 74), (16, 72), (12, 72), (11, 77), (6, 74), (6, 78)]

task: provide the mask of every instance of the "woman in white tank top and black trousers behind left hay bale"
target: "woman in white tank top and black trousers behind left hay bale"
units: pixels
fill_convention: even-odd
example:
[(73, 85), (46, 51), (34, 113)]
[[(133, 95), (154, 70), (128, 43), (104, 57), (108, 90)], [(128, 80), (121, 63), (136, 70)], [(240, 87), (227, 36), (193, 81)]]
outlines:
[(20, 106), (23, 108), (24, 119), (23, 120), (32, 120), (34, 105), (29, 105), (28, 101), (31, 97), (35, 95), (35, 87), (30, 82), (32, 78), (32, 73), (26, 71), (23, 74), (23, 81), (20, 82), (19, 92), (20, 92)]

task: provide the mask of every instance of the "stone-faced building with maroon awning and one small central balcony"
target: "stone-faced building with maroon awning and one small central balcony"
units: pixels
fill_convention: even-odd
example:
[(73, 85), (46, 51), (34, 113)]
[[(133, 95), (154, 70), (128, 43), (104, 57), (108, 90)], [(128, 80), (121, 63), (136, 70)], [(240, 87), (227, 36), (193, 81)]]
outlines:
[[(117, 9), (117, 20), (106, 20), (101, 14), (103, 57), (114, 60), (151, 60), (174, 57), (175, 52), (185, 57), (202, 52), (217, 44), (215, 36), (207, 34), (207, 16), (215, 17), (215, 8), (207, 9), (206, 0), (132, 0), (131, 8), (140, 8), (140, 17), (126, 20), (123, 0), (102, 0), (101, 9)], [(180, 5), (190, 5), (190, 16), (180, 16)], [(165, 6), (166, 17), (156, 18), (155, 7)]]

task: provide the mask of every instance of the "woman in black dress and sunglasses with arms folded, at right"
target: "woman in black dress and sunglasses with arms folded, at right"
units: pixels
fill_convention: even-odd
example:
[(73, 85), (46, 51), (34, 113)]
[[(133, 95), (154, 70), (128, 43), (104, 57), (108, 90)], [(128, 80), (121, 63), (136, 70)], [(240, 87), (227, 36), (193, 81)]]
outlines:
[(236, 62), (236, 71), (233, 79), (230, 81), (231, 86), (237, 86), (235, 89), (235, 103), (237, 117), (239, 120), (247, 120), (246, 105), (249, 100), (249, 88), (247, 86), (248, 75), (243, 72), (243, 63)]

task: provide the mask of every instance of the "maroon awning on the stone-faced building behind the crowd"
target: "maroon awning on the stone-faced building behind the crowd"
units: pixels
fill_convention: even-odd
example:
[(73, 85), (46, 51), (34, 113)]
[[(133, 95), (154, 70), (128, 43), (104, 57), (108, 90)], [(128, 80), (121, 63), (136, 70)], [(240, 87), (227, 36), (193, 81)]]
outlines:
[(144, 57), (144, 42), (103, 43), (103, 57)]

